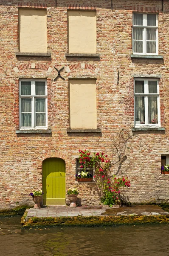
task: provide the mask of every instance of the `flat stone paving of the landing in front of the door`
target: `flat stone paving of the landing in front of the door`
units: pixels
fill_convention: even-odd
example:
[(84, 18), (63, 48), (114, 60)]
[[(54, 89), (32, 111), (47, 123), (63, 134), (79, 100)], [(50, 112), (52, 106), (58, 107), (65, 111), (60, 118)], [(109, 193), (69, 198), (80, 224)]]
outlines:
[(69, 206), (43, 206), (40, 209), (30, 208), (26, 219), (31, 217), (73, 217), (73, 216), (119, 216), (119, 215), (169, 215), (156, 205), (137, 205), (120, 208), (101, 208), (100, 206), (82, 206), (70, 208)]

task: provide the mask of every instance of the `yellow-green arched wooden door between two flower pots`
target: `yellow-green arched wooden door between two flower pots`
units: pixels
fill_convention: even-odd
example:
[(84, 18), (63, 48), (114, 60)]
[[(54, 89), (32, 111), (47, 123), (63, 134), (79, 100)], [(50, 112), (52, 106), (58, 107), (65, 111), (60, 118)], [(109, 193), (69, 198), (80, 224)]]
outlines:
[(65, 161), (61, 158), (47, 158), (42, 163), (43, 204), (65, 204)]

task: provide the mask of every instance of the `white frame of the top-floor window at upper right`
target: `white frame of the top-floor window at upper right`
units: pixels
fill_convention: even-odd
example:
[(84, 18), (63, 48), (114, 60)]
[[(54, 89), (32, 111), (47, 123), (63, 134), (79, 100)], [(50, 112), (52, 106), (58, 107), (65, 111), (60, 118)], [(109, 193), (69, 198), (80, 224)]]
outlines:
[[(134, 14), (142, 14), (143, 15), (143, 26), (134, 25)], [(137, 55), (158, 55), (158, 15), (156, 14), (156, 26), (147, 26), (147, 14), (153, 14), (153, 13), (133, 13), (133, 19), (132, 19), (132, 52), (133, 54)], [(153, 14), (154, 15), (154, 14)], [(142, 28), (143, 29), (143, 52), (134, 52), (134, 28)], [(156, 42), (156, 49), (155, 53), (147, 53), (146, 52), (146, 29), (156, 29), (156, 35), (155, 35), (155, 42)]]

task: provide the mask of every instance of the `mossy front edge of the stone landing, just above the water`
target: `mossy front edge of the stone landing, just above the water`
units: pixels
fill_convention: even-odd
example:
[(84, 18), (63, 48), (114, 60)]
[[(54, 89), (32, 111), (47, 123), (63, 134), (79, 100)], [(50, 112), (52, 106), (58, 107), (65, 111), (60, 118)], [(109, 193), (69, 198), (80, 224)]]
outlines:
[(32, 217), (25, 221), (23, 227), (48, 226), (112, 226), (124, 224), (166, 223), (166, 215), (130, 215), (130, 216), (77, 216), (77, 217)]

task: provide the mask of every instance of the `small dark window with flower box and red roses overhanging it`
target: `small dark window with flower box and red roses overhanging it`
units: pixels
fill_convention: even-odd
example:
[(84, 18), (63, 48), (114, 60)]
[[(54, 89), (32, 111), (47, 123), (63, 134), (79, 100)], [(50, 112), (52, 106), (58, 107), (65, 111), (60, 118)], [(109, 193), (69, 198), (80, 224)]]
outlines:
[(76, 180), (79, 182), (93, 181), (93, 163), (90, 164), (90, 152), (79, 149), (79, 154), (79, 158), (76, 159)]

